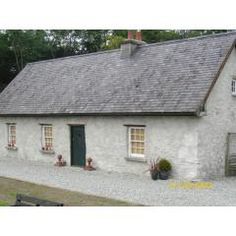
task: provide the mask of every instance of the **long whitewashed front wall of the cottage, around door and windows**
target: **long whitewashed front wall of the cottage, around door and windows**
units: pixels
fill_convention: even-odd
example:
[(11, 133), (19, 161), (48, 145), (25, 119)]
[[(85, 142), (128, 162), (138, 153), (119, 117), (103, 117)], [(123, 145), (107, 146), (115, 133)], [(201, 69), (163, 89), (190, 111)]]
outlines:
[[(198, 131), (196, 117), (2, 117), (0, 118), (0, 156), (40, 160), (53, 164), (62, 154), (70, 165), (70, 126), (84, 124), (87, 157), (97, 168), (108, 171), (148, 174), (148, 162), (158, 156), (173, 164), (173, 176), (194, 178), (198, 169)], [(16, 123), (17, 150), (8, 150), (7, 125)], [(40, 124), (53, 125), (55, 154), (41, 150)], [(145, 158), (147, 162), (128, 161), (128, 127), (146, 125)]]

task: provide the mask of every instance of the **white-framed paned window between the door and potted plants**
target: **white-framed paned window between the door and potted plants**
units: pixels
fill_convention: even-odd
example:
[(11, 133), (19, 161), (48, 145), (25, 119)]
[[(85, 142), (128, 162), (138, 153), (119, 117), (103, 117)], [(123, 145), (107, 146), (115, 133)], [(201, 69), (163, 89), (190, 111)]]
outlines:
[(144, 127), (129, 127), (129, 156), (144, 157)]

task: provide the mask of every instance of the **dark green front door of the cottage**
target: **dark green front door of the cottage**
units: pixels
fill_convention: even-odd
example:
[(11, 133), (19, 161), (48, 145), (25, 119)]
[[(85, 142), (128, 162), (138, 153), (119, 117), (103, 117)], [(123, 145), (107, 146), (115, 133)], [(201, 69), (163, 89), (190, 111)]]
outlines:
[(71, 126), (71, 165), (85, 166), (85, 156), (84, 125)]

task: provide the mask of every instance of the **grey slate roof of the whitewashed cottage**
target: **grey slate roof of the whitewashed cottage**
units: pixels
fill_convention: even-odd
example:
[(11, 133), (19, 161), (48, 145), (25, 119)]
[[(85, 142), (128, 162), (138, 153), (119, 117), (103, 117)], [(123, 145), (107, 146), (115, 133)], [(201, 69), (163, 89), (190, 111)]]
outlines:
[(196, 115), (236, 32), (28, 64), (0, 95), (1, 115)]

